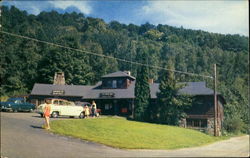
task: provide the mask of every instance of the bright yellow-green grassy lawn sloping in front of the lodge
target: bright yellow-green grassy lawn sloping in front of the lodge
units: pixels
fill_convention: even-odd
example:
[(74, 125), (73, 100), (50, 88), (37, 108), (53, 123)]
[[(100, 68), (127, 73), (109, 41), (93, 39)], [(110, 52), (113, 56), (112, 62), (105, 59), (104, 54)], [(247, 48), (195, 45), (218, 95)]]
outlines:
[(223, 139), (195, 130), (114, 117), (52, 121), (51, 131), (126, 149), (176, 149)]

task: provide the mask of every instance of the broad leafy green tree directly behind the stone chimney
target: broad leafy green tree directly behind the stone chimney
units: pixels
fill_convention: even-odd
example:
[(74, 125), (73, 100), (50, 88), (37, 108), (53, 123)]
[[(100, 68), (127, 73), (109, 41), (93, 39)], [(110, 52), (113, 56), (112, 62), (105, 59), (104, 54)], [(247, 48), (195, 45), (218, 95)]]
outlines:
[(67, 84), (89, 84), (93, 74), (87, 61), (88, 58), (82, 52), (50, 50), (39, 63), (39, 82), (53, 83), (55, 72), (64, 72)]

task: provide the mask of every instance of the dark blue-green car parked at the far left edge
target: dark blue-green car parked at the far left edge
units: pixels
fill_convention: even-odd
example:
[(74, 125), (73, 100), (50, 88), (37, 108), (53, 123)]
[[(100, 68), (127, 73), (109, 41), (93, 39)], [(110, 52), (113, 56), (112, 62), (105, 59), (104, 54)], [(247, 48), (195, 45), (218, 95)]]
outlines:
[(36, 106), (26, 101), (25, 98), (9, 98), (7, 102), (1, 102), (1, 111), (29, 111), (32, 112)]

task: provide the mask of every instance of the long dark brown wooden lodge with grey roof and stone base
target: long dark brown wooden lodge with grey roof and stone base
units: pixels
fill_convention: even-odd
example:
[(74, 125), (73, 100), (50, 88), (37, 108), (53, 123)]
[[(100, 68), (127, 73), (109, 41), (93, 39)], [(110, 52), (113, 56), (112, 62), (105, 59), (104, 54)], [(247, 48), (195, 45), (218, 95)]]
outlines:
[[(61, 80), (65, 80), (64, 77)], [(128, 116), (133, 114), (134, 88), (136, 78), (130, 72), (114, 72), (102, 76), (94, 86), (65, 85), (65, 84), (38, 84), (32, 89), (30, 99), (36, 105), (44, 102), (45, 98), (57, 97), (71, 101), (95, 100), (104, 115)], [(56, 82), (56, 81), (55, 81)], [(58, 83), (58, 82), (57, 82)], [(197, 128), (211, 133), (213, 129), (213, 90), (206, 87), (205, 82), (187, 82), (179, 90), (181, 94), (193, 95), (196, 104), (187, 112), (186, 119), (181, 121), (183, 127)], [(159, 92), (159, 83), (149, 82), (151, 100), (154, 102)], [(223, 120), (224, 98), (218, 95), (219, 127)], [(220, 128), (221, 129), (221, 128)]]

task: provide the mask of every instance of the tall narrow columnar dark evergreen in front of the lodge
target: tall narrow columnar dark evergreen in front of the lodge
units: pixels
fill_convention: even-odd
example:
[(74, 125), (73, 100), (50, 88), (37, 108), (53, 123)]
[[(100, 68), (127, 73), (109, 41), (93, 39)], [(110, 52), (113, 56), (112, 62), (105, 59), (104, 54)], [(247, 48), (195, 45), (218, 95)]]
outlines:
[[(147, 60), (147, 54), (145, 49), (139, 48), (141, 61)], [(137, 78), (135, 83), (135, 109), (134, 119), (137, 121), (148, 120), (148, 114), (146, 114), (150, 103), (150, 89), (148, 84), (148, 72), (147, 67), (140, 66), (137, 71)]]

